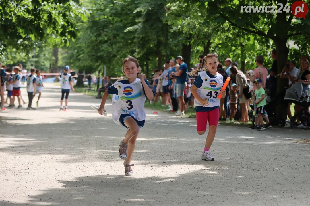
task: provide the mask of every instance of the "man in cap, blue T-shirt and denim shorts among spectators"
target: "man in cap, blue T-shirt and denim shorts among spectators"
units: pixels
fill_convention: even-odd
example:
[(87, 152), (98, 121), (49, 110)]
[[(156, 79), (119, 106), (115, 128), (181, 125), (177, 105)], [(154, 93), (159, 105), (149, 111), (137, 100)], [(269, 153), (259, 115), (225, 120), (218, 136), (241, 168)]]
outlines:
[(177, 116), (180, 115), (185, 115), (184, 114), (184, 89), (186, 87), (186, 80), (188, 77), (188, 68), (187, 64), (184, 63), (184, 58), (182, 56), (177, 56), (175, 61), (180, 65), (179, 71), (177, 72), (172, 72), (172, 75), (177, 76), (176, 78), (176, 96), (178, 97), (179, 100), (179, 106), (180, 110), (176, 114)]

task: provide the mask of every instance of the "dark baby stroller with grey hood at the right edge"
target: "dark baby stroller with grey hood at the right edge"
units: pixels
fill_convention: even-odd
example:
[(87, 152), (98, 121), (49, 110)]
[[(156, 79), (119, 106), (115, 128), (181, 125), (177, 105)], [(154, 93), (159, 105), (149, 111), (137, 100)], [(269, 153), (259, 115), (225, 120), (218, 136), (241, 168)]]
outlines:
[(309, 86), (303, 84), (302, 82), (297, 82), (293, 84), (291, 88), (286, 90), (284, 99), (302, 107), (302, 109), (292, 117), (290, 121), (291, 128), (298, 126), (296, 124), (297, 118), (299, 119), (300, 123), (303, 124), (303, 126), (310, 127), (309, 96)]

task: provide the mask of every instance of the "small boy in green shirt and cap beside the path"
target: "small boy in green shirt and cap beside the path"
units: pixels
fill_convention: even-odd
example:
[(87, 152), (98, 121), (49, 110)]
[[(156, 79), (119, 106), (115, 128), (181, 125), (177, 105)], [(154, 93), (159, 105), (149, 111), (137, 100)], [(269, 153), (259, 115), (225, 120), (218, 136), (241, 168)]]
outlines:
[(264, 127), (264, 120), (263, 120), (263, 112), (264, 106), (266, 105), (265, 99), (265, 90), (262, 87), (262, 80), (260, 78), (255, 79), (255, 104), (256, 104), (256, 114), (258, 114), (258, 124), (259, 127), (257, 128), (258, 131), (265, 130)]

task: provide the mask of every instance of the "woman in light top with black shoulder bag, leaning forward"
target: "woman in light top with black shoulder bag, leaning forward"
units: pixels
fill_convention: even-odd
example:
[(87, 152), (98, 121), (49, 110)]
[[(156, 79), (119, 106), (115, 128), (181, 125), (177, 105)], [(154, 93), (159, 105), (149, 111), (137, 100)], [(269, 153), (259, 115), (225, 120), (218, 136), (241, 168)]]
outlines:
[[(246, 75), (243, 74), (241, 71), (239, 71), (239, 69), (236, 66), (232, 66), (230, 68), (230, 71), (232, 73), (232, 76), (234, 76), (236, 78), (236, 82), (238, 85), (238, 99), (240, 99), (240, 104), (242, 107), (242, 111), (241, 111), (241, 119), (240, 119), (240, 123), (244, 123), (244, 122), (248, 122), (249, 118), (248, 118), (248, 111), (249, 111), (249, 107), (248, 107), (248, 103), (251, 101), (251, 99), (246, 99), (245, 95), (243, 94), (243, 90), (246, 87), (249, 87), (248, 84), (248, 80), (246, 78)], [(230, 98), (230, 101), (232, 101), (232, 98)]]

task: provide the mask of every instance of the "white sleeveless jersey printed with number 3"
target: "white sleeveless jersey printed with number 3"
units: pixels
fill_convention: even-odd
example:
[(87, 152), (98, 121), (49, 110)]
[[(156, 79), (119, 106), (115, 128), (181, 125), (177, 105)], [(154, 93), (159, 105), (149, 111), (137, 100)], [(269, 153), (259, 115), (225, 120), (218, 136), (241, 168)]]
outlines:
[(112, 118), (115, 123), (121, 124), (119, 118), (122, 114), (130, 114), (138, 121), (145, 120), (144, 102), (146, 97), (140, 79), (130, 84), (115, 82), (113, 86), (118, 90), (112, 95)]

